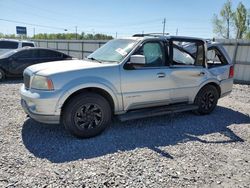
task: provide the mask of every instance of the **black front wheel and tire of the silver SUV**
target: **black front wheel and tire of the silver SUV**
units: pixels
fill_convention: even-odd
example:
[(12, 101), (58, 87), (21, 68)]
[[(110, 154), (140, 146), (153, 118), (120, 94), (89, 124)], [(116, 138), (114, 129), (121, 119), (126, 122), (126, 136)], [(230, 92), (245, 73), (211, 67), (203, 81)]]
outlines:
[(62, 116), (65, 128), (78, 138), (97, 136), (111, 121), (108, 101), (95, 93), (83, 93), (72, 98)]

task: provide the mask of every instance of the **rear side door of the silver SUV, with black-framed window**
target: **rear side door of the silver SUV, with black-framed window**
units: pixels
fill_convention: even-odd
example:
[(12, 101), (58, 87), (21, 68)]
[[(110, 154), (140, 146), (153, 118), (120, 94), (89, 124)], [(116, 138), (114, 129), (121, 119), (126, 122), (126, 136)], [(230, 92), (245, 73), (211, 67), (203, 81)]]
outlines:
[(202, 40), (170, 40), (171, 100), (189, 102), (206, 80), (205, 43)]

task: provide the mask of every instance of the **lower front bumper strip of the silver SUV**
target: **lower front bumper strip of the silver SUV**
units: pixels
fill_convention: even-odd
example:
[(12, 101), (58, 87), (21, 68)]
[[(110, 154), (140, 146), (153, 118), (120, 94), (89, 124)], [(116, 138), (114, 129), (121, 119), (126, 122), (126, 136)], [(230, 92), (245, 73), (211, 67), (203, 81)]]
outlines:
[(41, 115), (33, 113), (24, 99), (21, 99), (21, 105), (26, 114), (28, 114), (32, 119), (47, 124), (59, 124), (60, 116), (59, 115)]

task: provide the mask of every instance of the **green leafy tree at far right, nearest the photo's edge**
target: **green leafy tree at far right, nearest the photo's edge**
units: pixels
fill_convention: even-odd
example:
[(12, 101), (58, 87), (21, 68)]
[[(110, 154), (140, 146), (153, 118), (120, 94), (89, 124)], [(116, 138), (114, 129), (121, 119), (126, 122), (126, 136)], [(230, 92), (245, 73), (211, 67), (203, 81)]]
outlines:
[(234, 13), (234, 24), (236, 27), (236, 38), (241, 39), (247, 31), (247, 9), (241, 2)]

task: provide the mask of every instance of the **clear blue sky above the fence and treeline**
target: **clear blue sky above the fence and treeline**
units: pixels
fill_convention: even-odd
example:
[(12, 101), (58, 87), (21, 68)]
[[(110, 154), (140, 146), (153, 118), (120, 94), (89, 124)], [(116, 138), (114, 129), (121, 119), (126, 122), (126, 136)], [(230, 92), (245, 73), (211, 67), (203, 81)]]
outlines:
[[(212, 38), (212, 18), (226, 0), (0, 0), (0, 33), (16, 26), (34, 33), (103, 33), (126, 37), (161, 33)], [(240, 0), (233, 0), (235, 9)], [(250, 9), (250, 0), (241, 0)], [(9, 21), (4, 21), (9, 20)], [(22, 22), (22, 23), (13, 23)], [(31, 24), (31, 25), (30, 25)], [(67, 31), (65, 31), (65, 29)]]

